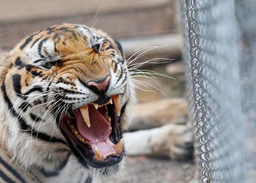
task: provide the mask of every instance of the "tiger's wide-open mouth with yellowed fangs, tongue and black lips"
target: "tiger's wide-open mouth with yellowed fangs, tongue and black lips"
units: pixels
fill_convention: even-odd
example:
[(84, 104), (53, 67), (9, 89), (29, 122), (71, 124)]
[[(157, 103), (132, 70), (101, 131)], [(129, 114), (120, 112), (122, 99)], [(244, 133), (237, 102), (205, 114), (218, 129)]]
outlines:
[(122, 160), (124, 141), (118, 122), (120, 112), (119, 95), (112, 95), (64, 116), (60, 126), (81, 163), (99, 168)]

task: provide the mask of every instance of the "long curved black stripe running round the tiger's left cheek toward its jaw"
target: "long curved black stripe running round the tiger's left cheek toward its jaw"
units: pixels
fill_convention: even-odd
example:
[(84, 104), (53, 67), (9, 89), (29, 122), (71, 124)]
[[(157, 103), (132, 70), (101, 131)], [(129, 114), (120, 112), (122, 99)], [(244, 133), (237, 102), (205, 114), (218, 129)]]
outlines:
[[(2, 92), (3, 92), (3, 94), (4, 94), (4, 100), (5, 100), (5, 102), (8, 104), (8, 108), (9, 109), (12, 109), (12, 107), (13, 107), (13, 104), (12, 104), (12, 102), (10, 101), (10, 99), (8, 98), (8, 96), (7, 96), (7, 93), (6, 93), (6, 88), (5, 88), (5, 84), (4, 84), (4, 82), (5, 82), (5, 78), (4, 78), (4, 81), (3, 81), (3, 83), (2, 83)], [(23, 130), (22, 132), (26, 132), (26, 133), (30, 133), (31, 134), (31, 129), (32, 129), (32, 126), (30, 126), (30, 125), (28, 125), (27, 123), (26, 123), (26, 121), (25, 121), (25, 119), (23, 119), (23, 118), (21, 118), (20, 116), (18, 116), (18, 113), (14, 110), (14, 109), (12, 109), (12, 114), (14, 115), (14, 116), (17, 116), (18, 118), (19, 118), (19, 122), (20, 122), (20, 127), (21, 127), (21, 129)], [(45, 133), (42, 133), (42, 132), (34, 132), (34, 133), (32, 133), (32, 135), (34, 136), (34, 137), (37, 137), (37, 138), (39, 138), (39, 139), (41, 139), (41, 140), (44, 140), (44, 141), (48, 141), (48, 142), (52, 142), (52, 143), (54, 143), (54, 142), (60, 142), (60, 143), (63, 143), (63, 144), (67, 144), (65, 141), (63, 141), (62, 139), (59, 139), (59, 138), (56, 138), (56, 137), (51, 137), (50, 135), (47, 135), (47, 134), (45, 134)]]

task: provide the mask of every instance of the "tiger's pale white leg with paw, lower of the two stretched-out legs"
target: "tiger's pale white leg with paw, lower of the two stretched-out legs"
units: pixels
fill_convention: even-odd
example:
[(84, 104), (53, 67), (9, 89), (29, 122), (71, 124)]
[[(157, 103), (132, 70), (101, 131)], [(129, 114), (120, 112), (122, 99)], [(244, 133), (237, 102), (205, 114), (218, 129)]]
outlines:
[(124, 133), (128, 156), (152, 155), (185, 159), (192, 156), (192, 133), (186, 125), (168, 124), (148, 130)]

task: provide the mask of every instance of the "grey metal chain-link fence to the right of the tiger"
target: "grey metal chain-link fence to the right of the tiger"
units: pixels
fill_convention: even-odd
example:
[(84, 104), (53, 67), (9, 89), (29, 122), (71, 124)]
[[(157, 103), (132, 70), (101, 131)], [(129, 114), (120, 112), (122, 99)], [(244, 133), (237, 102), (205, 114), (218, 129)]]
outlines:
[[(248, 109), (248, 105), (251, 107), (250, 104), (255, 107), (254, 99), (248, 97), (252, 96), (250, 93), (254, 93), (255, 89), (241, 85), (239, 75), (246, 75), (249, 82), (253, 81), (249, 87), (255, 86), (255, 73), (252, 69), (248, 71), (248, 66), (255, 66), (255, 28), (247, 26), (255, 24), (255, 19), (244, 8), (244, 4), (252, 3), (252, 0), (237, 0), (235, 3), (233, 0), (180, 0), (183, 60), (190, 103), (188, 116), (195, 126), (196, 178), (202, 182), (250, 181), (246, 173), (253, 164), (245, 163), (245, 159), (248, 160), (245, 154), (248, 139), (245, 136), (248, 132), (244, 133), (246, 128), (243, 121), (244, 116), (248, 116), (244, 109)], [(249, 6), (249, 10), (252, 7)], [(244, 41), (244, 33), (247, 33), (247, 37), (251, 36), (249, 43), (254, 43), (250, 47), (254, 50), (250, 50), (252, 56), (249, 63), (241, 62), (245, 54), (244, 51), (238, 51), (247, 45), (237, 44)], [(253, 120), (255, 122), (255, 118)]]

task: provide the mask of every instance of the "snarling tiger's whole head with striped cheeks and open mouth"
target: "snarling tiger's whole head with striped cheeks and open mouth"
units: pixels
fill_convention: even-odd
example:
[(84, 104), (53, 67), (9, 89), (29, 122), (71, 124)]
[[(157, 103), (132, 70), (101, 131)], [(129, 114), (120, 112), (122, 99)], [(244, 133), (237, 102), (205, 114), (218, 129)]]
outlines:
[(6, 124), (20, 144), (40, 149), (29, 149), (30, 158), (40, 154), (39, 166), (49, 167), (44, 159), (50, 158), (57, 166), (70, 153), (85, 167), (122, 160), (134, 91), (119, 42), (100, 30), (61, 24), (29, 35), (6, 60), (2, 92), (6, 115), (15, 119)]

